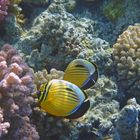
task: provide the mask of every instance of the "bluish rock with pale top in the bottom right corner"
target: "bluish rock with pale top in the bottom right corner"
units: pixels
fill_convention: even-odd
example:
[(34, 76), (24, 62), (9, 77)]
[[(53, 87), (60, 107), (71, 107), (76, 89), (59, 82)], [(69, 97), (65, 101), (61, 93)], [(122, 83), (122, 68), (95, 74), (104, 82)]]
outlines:
[(130, 99), (114, 121), (121, 140), (138, 139), (138, 114), (140, 106), (135, 99)]

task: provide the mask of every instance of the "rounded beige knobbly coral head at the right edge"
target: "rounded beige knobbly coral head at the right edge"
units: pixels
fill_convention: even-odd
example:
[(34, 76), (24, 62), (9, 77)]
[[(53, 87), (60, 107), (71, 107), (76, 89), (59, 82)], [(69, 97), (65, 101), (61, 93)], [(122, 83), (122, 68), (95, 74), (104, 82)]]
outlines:
[(140, 90), (140, 24), (129, 26), (113, 46), (120, 85), (133, 96)]

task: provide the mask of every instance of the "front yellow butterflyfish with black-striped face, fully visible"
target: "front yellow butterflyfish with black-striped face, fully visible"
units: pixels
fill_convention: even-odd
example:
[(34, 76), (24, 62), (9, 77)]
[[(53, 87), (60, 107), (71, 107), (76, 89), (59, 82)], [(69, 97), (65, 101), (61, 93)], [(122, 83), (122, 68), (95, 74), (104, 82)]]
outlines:
[(76, 119), (90, 107), (84, 91), (65, 80), (53, 79), (42, 84), (36, 95), (41, 109), (53, 116)]

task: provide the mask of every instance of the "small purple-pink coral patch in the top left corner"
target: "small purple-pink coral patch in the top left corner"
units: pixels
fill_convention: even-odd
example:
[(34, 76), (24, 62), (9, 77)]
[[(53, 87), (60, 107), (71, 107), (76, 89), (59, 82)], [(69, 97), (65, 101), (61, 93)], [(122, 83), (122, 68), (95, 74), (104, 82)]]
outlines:
[(0, 20), (8, 14), (8, 5), (10, 4), (9, 0), (0, 0)]

